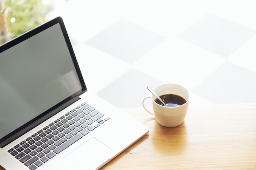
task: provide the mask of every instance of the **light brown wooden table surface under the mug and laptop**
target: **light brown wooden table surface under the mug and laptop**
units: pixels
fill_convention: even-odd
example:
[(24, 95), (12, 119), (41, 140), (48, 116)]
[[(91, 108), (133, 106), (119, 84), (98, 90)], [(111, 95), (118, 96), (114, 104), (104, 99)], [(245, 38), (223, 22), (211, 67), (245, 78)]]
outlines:
[(191, 106), (175, 128), (143, 108), (121, 110), (149, 132), (101, 170), (256, 169), (256, 104)]

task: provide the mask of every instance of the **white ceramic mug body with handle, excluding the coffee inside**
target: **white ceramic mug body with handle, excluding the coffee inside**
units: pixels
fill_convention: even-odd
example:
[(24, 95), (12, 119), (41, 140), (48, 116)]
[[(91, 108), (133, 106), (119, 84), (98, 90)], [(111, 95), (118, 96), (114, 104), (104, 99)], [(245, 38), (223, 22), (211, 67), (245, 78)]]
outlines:
[[(180, 106), (166, 107), (166, 106), (157, 104), (155, 102), (155, 99), (157, 99), (157, 97), (151, 94), (146, 96), (143, 99), (142, 105), (144, 109), (148, 113), (155, 115), (157, 122), (162, 126), (175, 127), (182, 124), (182, 122), (186, 117), (186, 113), (189, 107), (189, 100), (190, 100), (189, 91), (183, 86), (180, 86), (179, 84), (162, 84), (157, 86), (154, 89), (154, 91), (158, 96), (166, 95), (166, 94), (179, 95), (183, 97), (186, 100), (186, 102)], [(152, 99), (153, 111), (148, 106), (146, 106), (146, 103), (145, 103), (146, 99), (149, 99), (149, 98)]]

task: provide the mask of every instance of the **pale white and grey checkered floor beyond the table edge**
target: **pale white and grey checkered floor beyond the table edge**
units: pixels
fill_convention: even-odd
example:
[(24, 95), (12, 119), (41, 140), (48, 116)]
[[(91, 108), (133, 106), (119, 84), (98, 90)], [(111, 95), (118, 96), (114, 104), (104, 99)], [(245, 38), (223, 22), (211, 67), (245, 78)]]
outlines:
[(185, 86), (191, 105), (256, 102), (253, 1), (68, 1), (57, 15), (88, 91), (119, 108), (162, 83)]

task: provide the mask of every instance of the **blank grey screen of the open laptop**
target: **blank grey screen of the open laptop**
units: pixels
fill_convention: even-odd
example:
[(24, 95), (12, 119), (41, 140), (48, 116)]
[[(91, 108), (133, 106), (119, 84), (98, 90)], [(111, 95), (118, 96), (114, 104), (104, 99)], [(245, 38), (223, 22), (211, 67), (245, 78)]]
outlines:
[(57, 22), (0, 52), (0, 141), (86, 90), (65, 33)]

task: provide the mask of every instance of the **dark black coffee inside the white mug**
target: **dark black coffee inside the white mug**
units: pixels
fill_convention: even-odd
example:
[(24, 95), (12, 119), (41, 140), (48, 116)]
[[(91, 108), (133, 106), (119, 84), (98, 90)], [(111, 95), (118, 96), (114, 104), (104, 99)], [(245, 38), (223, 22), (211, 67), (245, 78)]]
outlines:
[[(166, 94), (166, 95), (161, 95), (159, 97), (164, 101), (167, 107), (176, 107), (186, 103), (186, 99), (184, 99), (179, 95)], [(164, 106), (164, 104), (162, 104), (162, 102), (160, 102), (159, 99), (155, 99), (155, 102), (157, 104)]]

